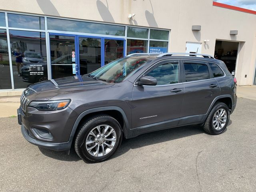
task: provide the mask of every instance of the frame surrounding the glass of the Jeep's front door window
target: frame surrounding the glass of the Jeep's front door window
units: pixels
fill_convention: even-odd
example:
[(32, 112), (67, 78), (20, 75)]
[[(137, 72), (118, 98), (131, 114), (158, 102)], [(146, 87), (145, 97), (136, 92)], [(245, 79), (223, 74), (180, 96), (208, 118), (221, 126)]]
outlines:
[[(151, 72), (152, 70), (154, 70), (155, 68), (157, 68), (158, 66), (162, 65), (162, 64), (167, 64), (167, 63), (178, 63), (178, 83), (174, 83), (174, 84), (167, 84), (167, 85), (155, 85), (155, 86), (150, 86), (150, 85), (136, 85), (136, 83), (140, 80), (140, 78), (142, 78), (143, 76), (146, 76), (146, 74), (148, 74), (149, 72)], [(147, 68), (144, 72), (142, 72), (142, 74), (140, 74), (140, 76), (138, 76), (138, 78), (136, 78), (136, 80), (134, 81), (134, 86), (143, 86), (143, 87), (163, 87), (163, 86), (172, 86), (172, 85), (177, 85), (177, 84), (182, 84), (182, 78), (183, 78), (183, 74), (182, 74), (183, 70), (182, 70), (182, 62), (180, 59), (165, 59), (165, 60), (160, 60), (158, 62), (156, 62), (155, 64), (152, 64), (152, 66), (150, 66), (149, 68)]]

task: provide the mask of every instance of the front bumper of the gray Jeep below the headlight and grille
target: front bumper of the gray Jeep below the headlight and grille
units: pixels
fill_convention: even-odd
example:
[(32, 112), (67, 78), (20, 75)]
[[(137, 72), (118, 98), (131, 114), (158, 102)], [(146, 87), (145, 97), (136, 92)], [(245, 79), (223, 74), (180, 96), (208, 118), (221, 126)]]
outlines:
[(28, 107), (24, 113), (20, 107), (17, 114), (22, 135), (31, 144), (56, 151), (70, 149), (70, 132), (77, 116), (70, 108), (45, 112)]

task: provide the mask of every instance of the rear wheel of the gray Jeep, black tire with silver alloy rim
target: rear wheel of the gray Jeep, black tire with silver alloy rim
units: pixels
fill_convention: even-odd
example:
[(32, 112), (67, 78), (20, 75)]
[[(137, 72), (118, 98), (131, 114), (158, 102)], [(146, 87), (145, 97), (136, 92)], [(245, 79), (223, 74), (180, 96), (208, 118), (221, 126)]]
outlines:
[(229, 108), (226, 104), (216, 102), (203, 124), (204, 131), (212, 135), (223, 133), (228, 125), (229, 113)]

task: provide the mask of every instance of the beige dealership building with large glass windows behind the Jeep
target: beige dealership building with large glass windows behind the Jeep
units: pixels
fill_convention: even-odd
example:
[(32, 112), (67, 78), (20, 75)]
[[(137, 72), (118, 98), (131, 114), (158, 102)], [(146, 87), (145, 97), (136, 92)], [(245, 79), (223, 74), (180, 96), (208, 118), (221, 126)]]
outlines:
[(210, 54), (238, 85), (256, 85), (253, 10), (212, 0), (0, 3), (0, 96), (87, 74), (132, 53)]

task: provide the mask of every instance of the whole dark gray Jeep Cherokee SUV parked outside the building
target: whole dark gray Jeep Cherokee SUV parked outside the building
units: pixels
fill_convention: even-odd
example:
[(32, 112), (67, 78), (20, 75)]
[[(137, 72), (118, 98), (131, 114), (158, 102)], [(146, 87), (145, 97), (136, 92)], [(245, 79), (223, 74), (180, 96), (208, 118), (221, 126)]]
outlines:
[(236, 79), (212, 56), (184, 55), (132, 54), (29, 86), (18, 109), (24, 138), (56, 151), (74, 147), (92, 163), (112, 156), (123, 137), (194, 124), (221, 134), (236, 107)]

